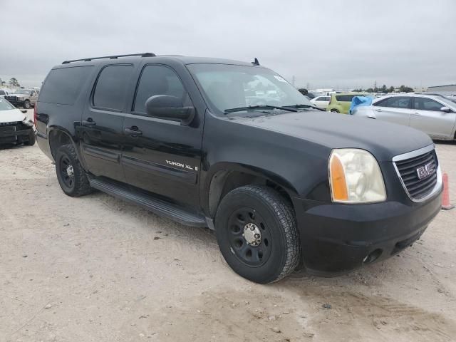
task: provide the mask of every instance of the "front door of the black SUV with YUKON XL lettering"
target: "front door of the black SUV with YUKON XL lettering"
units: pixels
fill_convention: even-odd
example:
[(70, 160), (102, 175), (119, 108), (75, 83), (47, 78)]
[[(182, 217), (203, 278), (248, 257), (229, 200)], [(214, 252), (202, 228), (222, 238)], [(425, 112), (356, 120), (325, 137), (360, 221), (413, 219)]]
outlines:
[[(162, 65), (146, 65), (141, 72), (133, 110), (125, 115), (123, 170), (130, 185), (198, 207), (202, 124), (151, 118), (145, 102), (153, 95), (172, 95), (192, 105), (177, 73)], [(198, 113), (197, 113), (198, 115)]]

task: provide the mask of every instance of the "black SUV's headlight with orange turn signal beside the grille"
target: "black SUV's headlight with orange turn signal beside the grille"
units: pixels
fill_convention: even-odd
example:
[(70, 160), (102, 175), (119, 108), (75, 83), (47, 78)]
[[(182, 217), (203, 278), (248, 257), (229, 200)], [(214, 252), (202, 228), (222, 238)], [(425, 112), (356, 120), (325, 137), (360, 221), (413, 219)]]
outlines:
[(371, 203), (386, 200), (383, 175), (371, 153), (356, 148), (333, 150), (328, 170), (333, 202)]

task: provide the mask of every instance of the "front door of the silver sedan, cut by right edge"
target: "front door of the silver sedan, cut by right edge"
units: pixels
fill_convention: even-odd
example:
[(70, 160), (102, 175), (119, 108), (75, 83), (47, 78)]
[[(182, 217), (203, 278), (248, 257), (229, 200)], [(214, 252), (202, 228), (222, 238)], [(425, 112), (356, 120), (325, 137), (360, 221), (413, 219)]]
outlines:
[(456, 113), (440, 110), (447, 105), (432, 98), (413, 98), (410, 126), (430, 135), (432, 138), (452, 138)]

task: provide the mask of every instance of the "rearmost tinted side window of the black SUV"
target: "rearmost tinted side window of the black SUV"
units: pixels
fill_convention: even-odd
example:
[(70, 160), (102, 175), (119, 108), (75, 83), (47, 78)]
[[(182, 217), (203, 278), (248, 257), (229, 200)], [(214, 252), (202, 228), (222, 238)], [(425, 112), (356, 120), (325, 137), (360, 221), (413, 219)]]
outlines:
[(91, 70), (91, 66), (51, 70), (44, 82), (40, 102), (73, 105)]

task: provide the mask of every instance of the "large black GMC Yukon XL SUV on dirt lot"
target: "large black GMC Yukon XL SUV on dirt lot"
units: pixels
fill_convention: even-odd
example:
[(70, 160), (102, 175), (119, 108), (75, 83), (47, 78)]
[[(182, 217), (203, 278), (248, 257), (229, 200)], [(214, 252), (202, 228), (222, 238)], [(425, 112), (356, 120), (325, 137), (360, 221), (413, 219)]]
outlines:
[(322, 112), (257, 59), (65, 61), (35, 119), (67, 195), (98, 189), (215, 229), (232, 269), (263, 284), (388, 258), (440, 210), (427, 135)]

